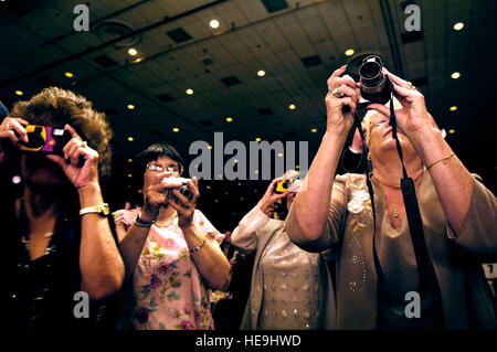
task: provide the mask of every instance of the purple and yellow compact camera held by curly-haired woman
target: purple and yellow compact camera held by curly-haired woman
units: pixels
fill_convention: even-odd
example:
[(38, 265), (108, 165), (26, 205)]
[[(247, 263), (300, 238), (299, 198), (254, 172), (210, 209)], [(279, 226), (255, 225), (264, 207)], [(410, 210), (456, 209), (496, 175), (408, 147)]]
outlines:
[(71, 140), (70, 132), (63, 128), (49, 126), (25, 126), (28, 142), (20, 142), (20, 150), (62, 156), (62, 149)]

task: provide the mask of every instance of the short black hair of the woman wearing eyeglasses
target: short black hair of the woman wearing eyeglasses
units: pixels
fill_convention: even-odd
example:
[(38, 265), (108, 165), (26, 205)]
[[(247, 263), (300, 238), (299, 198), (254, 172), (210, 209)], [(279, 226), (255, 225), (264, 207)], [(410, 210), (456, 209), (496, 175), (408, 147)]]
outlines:
[(136, 156), (136, 163), (133, 172), (133, 174), (136, 175), (134, 178), (134, 185), (136, 190), (144, 186), (144, 173), (147, 164), (150, 161), (156, 161), (161, 157), (168, 157), (178, 162), (180, 164), (180, 173), (184, 170), (183, 159), (175, 147), (167, 143), (151, 145)]

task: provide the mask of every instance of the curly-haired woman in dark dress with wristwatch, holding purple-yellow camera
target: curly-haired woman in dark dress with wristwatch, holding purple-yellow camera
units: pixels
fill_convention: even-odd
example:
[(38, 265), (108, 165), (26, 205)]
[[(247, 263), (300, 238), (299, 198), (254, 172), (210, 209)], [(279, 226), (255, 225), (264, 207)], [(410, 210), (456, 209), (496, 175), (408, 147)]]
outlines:
[[(61, 154), (22, 150), (36, 139), (29, 124), (67, 134)], [(15, 103), (1, 122), (1, 300), (9, 328), (95, 327), (94, 302), (108, 303), (120, 289), (124, 264), (99, 183), (110, 136), (91, 102), (55, 87)]]

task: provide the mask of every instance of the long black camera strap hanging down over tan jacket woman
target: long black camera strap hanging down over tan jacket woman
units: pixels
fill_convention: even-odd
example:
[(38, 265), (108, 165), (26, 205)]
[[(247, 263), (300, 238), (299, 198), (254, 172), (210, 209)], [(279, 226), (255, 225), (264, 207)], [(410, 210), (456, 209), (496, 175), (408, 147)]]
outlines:
[[(429, 284), (430, 284), (430, 259), (427, 256), (427, 249), (426, 249), (426, 243), (424, 239), (424, 232), (423, 232), (423, 221), (421, 218), (420, 213), (420, 206), (417, 203), (416, 198), (416, 190), (414, 185), (414, 181), (409, 178), (408, 172), (404, 167), (404, 160), (402, 154), (402, 148), (399, 141), (399, 137), (396, 135), (396, 117), (395, 117), (395, 109), (393, 106), (393, 84), (390, 82), (390, 79), (387, 79), (388, 84), (391, 88), (391, 99), (390, 99), (390, 126), (392, 127), (392, 138), (395, 140), (396, 150), (399, 152), (399, 158), (402, 163), (402, 173), (403, 179), (401, 179), (401, 190), (402, 190), (402, 196), (404, 200), (404, 206), (405, 206), (405, 213), (408, 216), (408, 223), (409, 223), (409, 230), (411, 234), (411, 241), (414, 248), (414, 256), (416, 259), (416, 266), (417, 266), (417, 274), (419, 274), (419, 290), (420, 297), (423, 298), (427, 291)], [(362, 116), (363, 118), (363, 116)], [(355, 127), (359, 129), (359, 134), (362, 139), (362, 152), (367, 154), (368, 150), (366, 147), (366, 138), (364, 134), (362, 131), (360, 121), (362, 118), (359, 118), (356, 115), (355, 119)], [(374, 194), (373, 189), (371, 184), (371, 180), (369, 178), (369, 172), (371, 170), (371, 164), (368, 161), (368, 164), (366, 167), (366, 183), (370, 193), (371, 198), (371, 207), (373, 213), (373, 239), (372, 239), (372, 247), (373, 247), (373, 257), (374, 257), (374, 267), (377, 270), (378, 279), (379, 281), (383, 281), (387, 284), (383, 275), (383, 270), (381, 268), (380, 260), (378, 258), (377, 253), (377, 246), (376, 246), (376, 235), (377, 235), (377, 214), (376, 214), (376, 207), (374, 207)]]

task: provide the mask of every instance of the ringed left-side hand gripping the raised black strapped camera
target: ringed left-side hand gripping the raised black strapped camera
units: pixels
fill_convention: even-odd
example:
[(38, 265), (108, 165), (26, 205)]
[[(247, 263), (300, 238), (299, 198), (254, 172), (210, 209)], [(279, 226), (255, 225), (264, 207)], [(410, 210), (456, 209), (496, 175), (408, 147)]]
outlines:
[(328, 94), (325, 103), (327, 109), (327, 131), (347, 135), (353, 124), (359, 104), (359, 84), (350, 76), (340, 77), (347, 70), (341, 66), (328, 78)]

